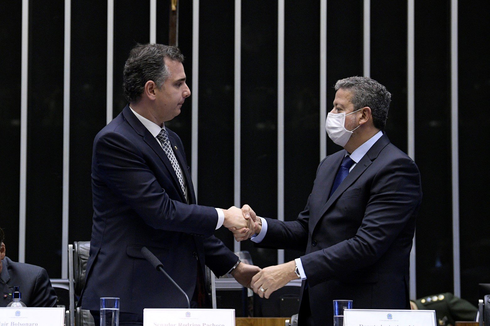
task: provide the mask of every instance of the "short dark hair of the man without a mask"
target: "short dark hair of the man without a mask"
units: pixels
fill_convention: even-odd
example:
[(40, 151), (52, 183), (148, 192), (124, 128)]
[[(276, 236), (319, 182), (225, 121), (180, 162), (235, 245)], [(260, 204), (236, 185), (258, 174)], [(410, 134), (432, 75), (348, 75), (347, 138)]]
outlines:
[(131, 49), (123, 70), (124, 97), (128, 102), (140, 100), (148, 80), (154, 81), (159, 89), (162, 88), (170, 76), (165, 58), (184, 61), (178, 47), (147, 43), (137, 44)]

